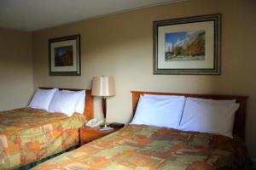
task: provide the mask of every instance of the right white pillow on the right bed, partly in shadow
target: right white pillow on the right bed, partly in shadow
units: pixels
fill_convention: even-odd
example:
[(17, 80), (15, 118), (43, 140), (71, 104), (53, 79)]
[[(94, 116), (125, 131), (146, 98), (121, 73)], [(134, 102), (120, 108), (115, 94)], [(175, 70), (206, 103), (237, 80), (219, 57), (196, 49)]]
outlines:
[(234, 100), (187, 98), (180, 130), (216, 133), (232, 138), (236, 110)]

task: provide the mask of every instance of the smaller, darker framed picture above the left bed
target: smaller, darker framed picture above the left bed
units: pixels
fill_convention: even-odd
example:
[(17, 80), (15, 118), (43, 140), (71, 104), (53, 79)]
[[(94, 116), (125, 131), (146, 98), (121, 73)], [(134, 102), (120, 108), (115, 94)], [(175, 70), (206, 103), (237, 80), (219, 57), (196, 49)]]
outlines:
[(80, 35), (49, 39), (49, 76), (80, 76)]

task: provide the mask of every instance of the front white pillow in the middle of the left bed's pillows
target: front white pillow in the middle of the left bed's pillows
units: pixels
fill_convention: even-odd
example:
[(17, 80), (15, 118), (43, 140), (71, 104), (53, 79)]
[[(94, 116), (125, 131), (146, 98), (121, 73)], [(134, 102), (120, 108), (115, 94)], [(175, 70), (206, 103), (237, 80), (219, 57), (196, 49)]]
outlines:
[(61, 112), (72, 116), (79, 101), (80, 94), (76, 92), (57, 91), (49, 104), (49, 112)]

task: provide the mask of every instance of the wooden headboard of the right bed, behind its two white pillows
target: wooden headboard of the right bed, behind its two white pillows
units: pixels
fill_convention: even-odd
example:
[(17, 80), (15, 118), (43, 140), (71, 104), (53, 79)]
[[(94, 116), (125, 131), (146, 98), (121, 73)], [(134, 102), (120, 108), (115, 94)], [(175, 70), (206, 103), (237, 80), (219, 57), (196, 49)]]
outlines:
[(186, 97), (202, 98), (202, 99), (236, 99), (236, 103), (239, 103), (239, 109), (236, 111), (235, 122), (233, 127), (233, 133), (239, 136), (241, 139), (245, 139), (246, 128), (246, 114), (247, 114), (247, 96), (236, 95), (216, 95), (216, 94), (176, 94), (165, 92), (143, 92), (143, 91), (131, 91), (132, 93), (132, 110), (133, 114), (137, 108), (137, 102), (141, 94), (158, 94), (158, 95), (183, 95)]

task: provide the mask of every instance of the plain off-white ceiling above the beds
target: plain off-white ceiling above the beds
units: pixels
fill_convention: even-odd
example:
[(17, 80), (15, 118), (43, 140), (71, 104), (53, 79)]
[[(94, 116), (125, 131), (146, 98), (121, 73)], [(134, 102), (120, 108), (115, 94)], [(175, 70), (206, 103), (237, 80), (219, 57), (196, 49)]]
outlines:
[(104, 14), (180, 0), (0, 0), (0, 27), (38, 31)]

